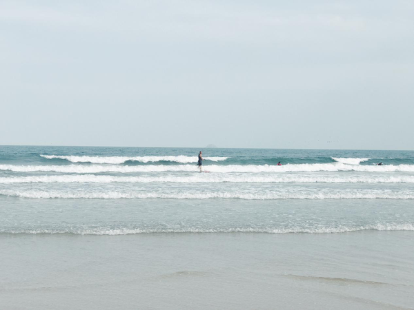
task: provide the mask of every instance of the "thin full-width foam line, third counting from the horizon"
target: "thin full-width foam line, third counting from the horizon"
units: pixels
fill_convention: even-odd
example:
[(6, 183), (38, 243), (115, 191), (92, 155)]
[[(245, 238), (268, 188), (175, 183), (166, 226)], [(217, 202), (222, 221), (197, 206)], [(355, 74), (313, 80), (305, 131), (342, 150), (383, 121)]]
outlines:
[(279, 200), (279, 199), (414, 199), (414, 192), (391, 191), (352, 191), (352, 192), (56, 192), (43, 190), (0, 190), (0, 195), (21, 198), (63, 198), (63, 199), (244, 199), (244, 200)]

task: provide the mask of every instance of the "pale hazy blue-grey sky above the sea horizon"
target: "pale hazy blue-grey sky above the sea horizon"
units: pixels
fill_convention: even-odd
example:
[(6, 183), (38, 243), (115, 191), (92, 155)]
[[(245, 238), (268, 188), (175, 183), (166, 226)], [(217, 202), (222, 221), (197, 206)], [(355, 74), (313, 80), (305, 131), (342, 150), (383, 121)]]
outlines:
[(414, 149), (414, 1), (0, 0), (0, 144)]

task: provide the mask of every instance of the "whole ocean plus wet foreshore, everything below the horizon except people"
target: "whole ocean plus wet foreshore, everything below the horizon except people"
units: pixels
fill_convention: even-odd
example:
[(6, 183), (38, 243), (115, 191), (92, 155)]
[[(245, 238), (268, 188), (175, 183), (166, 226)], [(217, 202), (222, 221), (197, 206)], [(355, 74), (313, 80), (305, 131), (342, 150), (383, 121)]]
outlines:
[(0, 146), (0, 260), (0, 309), (414, 309), (414, 152)]

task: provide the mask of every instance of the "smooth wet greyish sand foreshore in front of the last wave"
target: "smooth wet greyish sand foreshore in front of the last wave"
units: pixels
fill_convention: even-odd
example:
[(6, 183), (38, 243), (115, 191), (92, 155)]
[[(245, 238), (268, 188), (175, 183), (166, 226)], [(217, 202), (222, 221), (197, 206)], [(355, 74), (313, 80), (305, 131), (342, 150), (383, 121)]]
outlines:
[(0, 308), (413, 309), (412, 235), (0, 234)]

